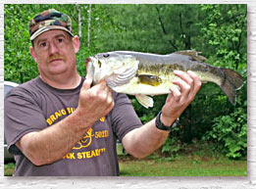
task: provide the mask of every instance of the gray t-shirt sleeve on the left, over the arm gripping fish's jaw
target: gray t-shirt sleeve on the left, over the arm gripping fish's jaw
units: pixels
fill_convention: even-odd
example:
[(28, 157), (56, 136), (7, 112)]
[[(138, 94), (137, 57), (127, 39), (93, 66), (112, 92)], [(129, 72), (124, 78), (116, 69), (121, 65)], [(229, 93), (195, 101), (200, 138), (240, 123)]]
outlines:
[(38, 131), (47, 126), (32, 94), (20, 87), (14, 88), (5, 98), (4, 125), (8, 150), (12, 154), (21, 154), (15, 144), (26, 133)]

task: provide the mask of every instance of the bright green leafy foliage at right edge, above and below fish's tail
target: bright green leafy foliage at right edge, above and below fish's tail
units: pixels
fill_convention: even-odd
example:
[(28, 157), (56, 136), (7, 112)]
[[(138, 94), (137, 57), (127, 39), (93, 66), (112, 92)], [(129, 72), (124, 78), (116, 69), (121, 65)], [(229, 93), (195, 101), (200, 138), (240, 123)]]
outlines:
[[(214, 51), (209, 61), (215, 66), (239, 71), (246, 78), (246, 6), (202, 5), (201, 8), (208, 13), (202, 31)], [(214, 118), (212, 129), (205, 134), (205, 139), (217, 140), (218, 149), (223, 149), (229, 158), (241, 158), (246, 155), (246, 91), (245, 83), (238, 91), (236, 107), (230, 107), (226, 114)]]

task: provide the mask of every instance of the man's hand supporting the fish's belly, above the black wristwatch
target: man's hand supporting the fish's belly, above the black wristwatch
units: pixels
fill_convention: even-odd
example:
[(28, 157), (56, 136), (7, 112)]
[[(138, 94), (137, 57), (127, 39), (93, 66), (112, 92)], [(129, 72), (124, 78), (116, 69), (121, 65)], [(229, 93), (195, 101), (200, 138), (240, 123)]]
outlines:
[(172, 87), (166, 104), (162, 109), (161, 121), (165, 125), (171, 125), (185, 108), (194, 99), (196, 93), (200, 89), (202, 82), (199, 77), (193, 71), (174, 71), (181, 79), (174, 80), (173, 83), (178, 85)]

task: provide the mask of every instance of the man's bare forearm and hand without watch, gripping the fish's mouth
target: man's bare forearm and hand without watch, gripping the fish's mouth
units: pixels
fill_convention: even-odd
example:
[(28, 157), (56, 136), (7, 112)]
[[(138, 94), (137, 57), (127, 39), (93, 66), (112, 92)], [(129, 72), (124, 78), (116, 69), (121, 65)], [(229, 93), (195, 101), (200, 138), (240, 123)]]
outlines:
[(91, 79), (86, 79), (80, 90), (77, 110), (72, 115), (41, 131), (30, 132), (16, 143), (34, 165), (61, 160), (96, 120), (113, 109), (112, 93), (106, 82), (91, 88), (90, 85)]

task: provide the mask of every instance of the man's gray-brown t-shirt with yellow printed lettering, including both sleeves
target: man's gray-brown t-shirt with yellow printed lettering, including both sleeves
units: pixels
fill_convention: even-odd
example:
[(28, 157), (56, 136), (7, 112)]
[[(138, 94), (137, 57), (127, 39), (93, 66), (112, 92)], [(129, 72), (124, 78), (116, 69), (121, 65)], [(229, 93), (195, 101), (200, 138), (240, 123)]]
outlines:
[(119, 175), (117, 139), (141, 126), (127, 95), (113, 92), (115, 108), (97, 120), (62, 160), (51, 165), (32, 165), (16, 147), (21, 137), (39, 131), (71, 115), (79, 91), (56, 89), (36, 77), (14, 88), (5, 98), (5, 136), (15, 155), (16, 176), (112, 176)]

